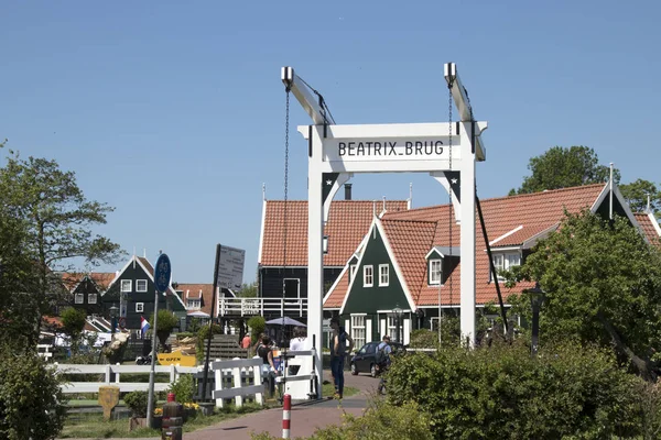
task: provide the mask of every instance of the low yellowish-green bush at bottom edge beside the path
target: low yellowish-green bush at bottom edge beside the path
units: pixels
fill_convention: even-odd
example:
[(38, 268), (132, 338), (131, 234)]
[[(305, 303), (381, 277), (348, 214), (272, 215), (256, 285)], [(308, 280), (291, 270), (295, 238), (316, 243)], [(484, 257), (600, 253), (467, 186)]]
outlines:
[[(401, 407), (382, 399), (371, 402), (362, 417), (345, 413), (342, 426), (317, 429), (313, 440), (432, 440), (432, 418), (420, 406), (409, 402)], [(253, 435), (252, 440), (274, 440), (267, 432)]]

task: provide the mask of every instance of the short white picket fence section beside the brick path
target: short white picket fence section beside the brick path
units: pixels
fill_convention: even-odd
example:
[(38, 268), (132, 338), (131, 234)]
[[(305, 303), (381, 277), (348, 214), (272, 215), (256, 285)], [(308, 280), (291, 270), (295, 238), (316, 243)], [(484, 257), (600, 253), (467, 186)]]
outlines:
[[(262, 364), (263, 361), (261, 358), (213, 362), (212, 370), (214, 371), (216, 383), (216, 389), (214, 391), (216, 406), (223, 408), (225, 405), (224, 399), (234, 397), (236, 406), (240, 407), (243, 405), (243, 397), (248, 396), (254, 396), (254, 400), (263, 405)], [(250, 375), (252, 376), (253, 385), (243, 385), (243, 382), (248, 382), (245, 378)], [(225, 388), (225, 378), (228, 376), (231, 377), (234, 386)]]

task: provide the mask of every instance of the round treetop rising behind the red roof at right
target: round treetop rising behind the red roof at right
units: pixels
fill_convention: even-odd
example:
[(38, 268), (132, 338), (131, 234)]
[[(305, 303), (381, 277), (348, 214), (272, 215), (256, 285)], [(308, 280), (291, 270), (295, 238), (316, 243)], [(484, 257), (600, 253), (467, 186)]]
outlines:
[[(605, 183), (610, 175), (608, 166), (599, 165), (597, 153), (583, 145), (554, 146), (541, 156), (532, 157), (528, 169), (532, 175), (523, 178), (520, 188), (510, 190), (510, 196)], [(619, 179), (620, 172), (614, 169), (615, 183)]]

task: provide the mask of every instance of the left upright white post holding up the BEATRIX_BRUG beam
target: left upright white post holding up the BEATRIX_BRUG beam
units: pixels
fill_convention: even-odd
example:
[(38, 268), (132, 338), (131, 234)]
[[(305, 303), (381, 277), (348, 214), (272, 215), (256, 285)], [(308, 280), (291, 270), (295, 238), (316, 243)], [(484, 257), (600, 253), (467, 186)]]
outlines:
[(319, 127), (312, 127), (312, 156), (307, 165), (307, 338), (315, 341), (315, 374), (318, 397), (322, 397), (322, 318), (324, 298), (324, 205), (322, 198), (322, 139)]

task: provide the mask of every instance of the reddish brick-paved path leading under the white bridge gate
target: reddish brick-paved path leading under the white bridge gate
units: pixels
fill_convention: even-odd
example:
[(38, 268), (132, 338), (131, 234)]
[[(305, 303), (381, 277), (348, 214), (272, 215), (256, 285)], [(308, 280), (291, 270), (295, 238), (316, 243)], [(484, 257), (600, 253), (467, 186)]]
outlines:
[[(329, 378), (330, 372), (324, 372), (324, 377)], [(378, 380), (369, 376), (345, 375), (345, 386), (360, 389), (360, 393), (346, 397), (342, 402), (323, 400), (314, 404), (296, 405), (291, 415), (291, 438), (308, 437), (317, 428), (342, 422), (344, 411), (353, 415), (361, 415), (367, 407), (367, 400), (375, 393)], [(246, 440), (250, 439), (251, 432), (267, 431), (275, 437), (282, 435), (282, 409), (274, 408), (260, 413), (241, 416), (227, 420), (195, 432), (184, 435), (184, 440)], [(133, 439), (133, 440), (153, 440)], [(90, 439), (88, 439), (90, 440)], [(119, 439), (116, 439), (119, 440)]]

